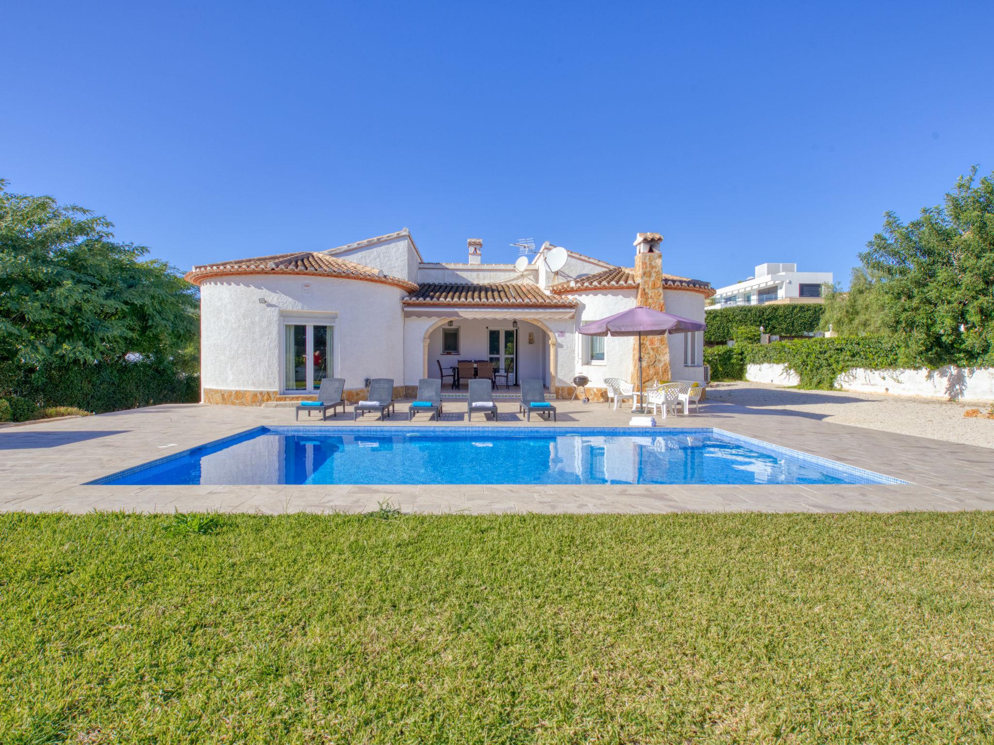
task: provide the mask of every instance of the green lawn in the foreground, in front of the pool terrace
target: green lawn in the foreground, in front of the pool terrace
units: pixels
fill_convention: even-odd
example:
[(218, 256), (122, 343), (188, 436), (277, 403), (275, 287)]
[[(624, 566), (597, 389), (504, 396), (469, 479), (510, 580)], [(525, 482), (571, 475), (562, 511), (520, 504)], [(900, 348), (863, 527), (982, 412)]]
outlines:
[(172, 521), (0, 516), (0, 742), (994, 741), (994, 514)]

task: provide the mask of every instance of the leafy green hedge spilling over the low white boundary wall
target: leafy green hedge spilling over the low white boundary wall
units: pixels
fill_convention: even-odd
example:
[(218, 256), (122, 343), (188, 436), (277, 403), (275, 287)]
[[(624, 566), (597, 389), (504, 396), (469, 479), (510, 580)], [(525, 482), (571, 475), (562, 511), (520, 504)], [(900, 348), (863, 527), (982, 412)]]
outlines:
[(853, 368), (900, 367), (897, 341), (871, 336), (710, 347), (704, 361), (711, 366), (713, 380), (743, 380), (747, 365), (785, 365), (800, 377), (802, 388), (831, 388), (836, 377)]

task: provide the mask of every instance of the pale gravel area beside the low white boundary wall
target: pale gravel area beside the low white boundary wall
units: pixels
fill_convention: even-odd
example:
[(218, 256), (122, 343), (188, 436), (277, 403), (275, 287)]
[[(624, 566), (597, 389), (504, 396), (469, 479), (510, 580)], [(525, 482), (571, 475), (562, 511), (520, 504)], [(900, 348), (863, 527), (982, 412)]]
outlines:
[(845, 390), (798, 390), (760, 382), (715, 382), (708, 398), (748, 408), (793, 411), (800, 416), (994, 448), (994, 419), (968, 419), (968, 408), (990, 403), (957, 403)]

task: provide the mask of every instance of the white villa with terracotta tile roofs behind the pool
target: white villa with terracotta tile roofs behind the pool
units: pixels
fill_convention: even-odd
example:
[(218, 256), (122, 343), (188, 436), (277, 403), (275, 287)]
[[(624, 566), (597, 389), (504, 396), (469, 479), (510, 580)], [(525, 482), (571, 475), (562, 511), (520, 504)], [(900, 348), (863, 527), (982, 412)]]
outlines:
[[(485, 264), (483, 241), (472, 238), (466, 263), (426, 261), (407, 228), (195, 266), (186, 278), (201, 293), (202, 400), (292, 400), (312, 396), (324, 377), (344, 377), (353, 401), (372, 377), (412, 396), (419, 378), (447, 375), (457, 360), (493, 362), (511, 386), (540, 378), (560, 397), (585, 375), (602, 400), (605, 377), (635, 376), (634, 343), (581, 336), (581, 324), (635, 305), (703, 321), (714, 294), (707, 282), (663, 273), (662, 239), (638, 233), (633, 267), (550, 243), (517, 267)], [(672, 335), (661, 348), (652, 341), (665, 355), (647, 380), (704, 380), (702, 333)], [(454, 392), (443, 379), (443, 392)]]

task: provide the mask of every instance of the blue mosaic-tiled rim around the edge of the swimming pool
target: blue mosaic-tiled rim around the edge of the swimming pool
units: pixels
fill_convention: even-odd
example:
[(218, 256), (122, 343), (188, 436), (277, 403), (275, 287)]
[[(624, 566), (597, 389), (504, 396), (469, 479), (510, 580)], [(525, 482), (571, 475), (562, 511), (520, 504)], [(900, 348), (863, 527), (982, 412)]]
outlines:
[[(859, 466), (852, 466), (848, 463), (843, 463), (842, 461), (833, 460), (831, 458), (824, 458), (822, 456), (813, 455), (811, 453), (804, 452), (803, 450), (797, 450), (794, 448), (784, 447), (782, 445), (776, 445), (765, 440), (760, 440), (755, 437), (749, 437), (747, 435), (739, 434), (737, 432), (730, 432), (728, 430), (722, 429), (720, 427), (552, 427), (548, 425), (540, 426), (521, 426), (514, 428), (504, 428), (504, 427), (493, 427), (493, 426), (445, 426), (445, 425), (435, 425), (435, 426), (424, 426), (424, 425), (414, 425), (414, 426), (403, 426), (397, 425), (391, 427), (390, 429), (385, 429), (382, 426), (376, 425), (363, 425), (359, 424), (356, 426), (349, 425), (309, 425), (309, 426), (295, 426), (295, 425), (268, 425), (260, 424), (254, 427), (249, 427), (241, 432), (236, 432), (225, 437), (220, 437), (215, 440), (210, 440), (208, 442), (202, 443), (200, 445), (194, 445), (192, 447), (181, 450), (177, 453), (170, 453), (169, 455), (163, 456), (161, 458), (156, 458), (145, 463), (140, 463), (136, 466), (131, 466), (120, 471), (115, 471), (113, 473), (101, 476), (97, 479), (84, 482), (81, 486), (116, 486), (112, 484), (113, 481), (118, 479), (131, 476), (142, 471), (146, 471), (151, 468), (155, 468), (162, 464), (168, 463), (170, 461), (176, 460), (186, 456), (188, 453), (198, 450), (200, 448), (212, 448), (219, 445), (223, 445), (226, 442), (231, 442), (235, 440), (247, 439), (249, 436), (257, 436), (262, 431), (276, 432), (279, 434), (307, 434), (315, 435), (315, 430), (320, 430), (322, 434), (335, 433), (337, 435), (372, 435), (378, 437), (385, 436), (396, 436), (398, 430), (402, 430), (403, 434), (460, 434), (462, 436), (493, 436), (495, 434), (502, 437), (528, 437), (528, 436), (541, 436), (541, 435), (555, 435), (555, 436), (569, 436), (569, 435), (588, 435), (588, 436), (646, 436), (646, 435), (656, 435), (656, 436), (717, 436), (721, 439), (727, 441), (736, 442), (738, 444), (747, 445), (748, 447), (756, 450), (765, 455), (772, 455), (774, 457), (789, 457), (796, 460), (804, 461), (809, 464), (818, 466), (822, 470), (829, 472), (834, 472), (835, 474), (843, 474), (853, 478), (869, 479), (871, 481), (857, 482), (855, 484), (845, 484), (841, 486), (894, 486), (894, 485), (909, 485), (911, 482), (904, 481), (894, 476), (889, 476), (887, 474), (882, 474), (876, 471), (871, 471), (869, 469), (861, 468)], [(325, 432), (325, 430), (327, 430)], [(146, 485), (146, 486), (183, 486), (183, 485)], [(204, 486), (221, 486), (221, 485), (204, 485)], [(265, 485), (244, 485), (244, 486), (265, 486)], [(307, 486), (298, 484), (284, 484), (284, 485), (273, 485), (273, 486)], [(335, 484), (335, 485), (323, 485), (323, 486), (357, 486), (357, 487), (387, 487), (393, 486), (392, 484)], [(436, 486), (477, 486), (475, 484), (443, 484)], [(522, 488), (532, 487), (532, 486), (545, 486), (545, 485), (535, 485), (535, 484), (506, 484), (504, 486), (514, 487), (519, 486)], [(590, 487), (590, 486), (602, 486), (598, 484), (578, 484), (571, 485), (577, 487)], [(717, 486), (737, 486), (737, 485), (725, 485), (725, 484), (639, 484), (639, 485), (618, 485), (618, 486), (645, 486), (645, 487), (717, 487)], [(756, 485), (738, 485), (738, 486), (762, 486), (762, 487), (784, 487), (784, 488), (794, 488), (799, 485), (797, 484), (756, 484)], [(804, 485), (804, 486), (826, 486), (826, 485)]]

